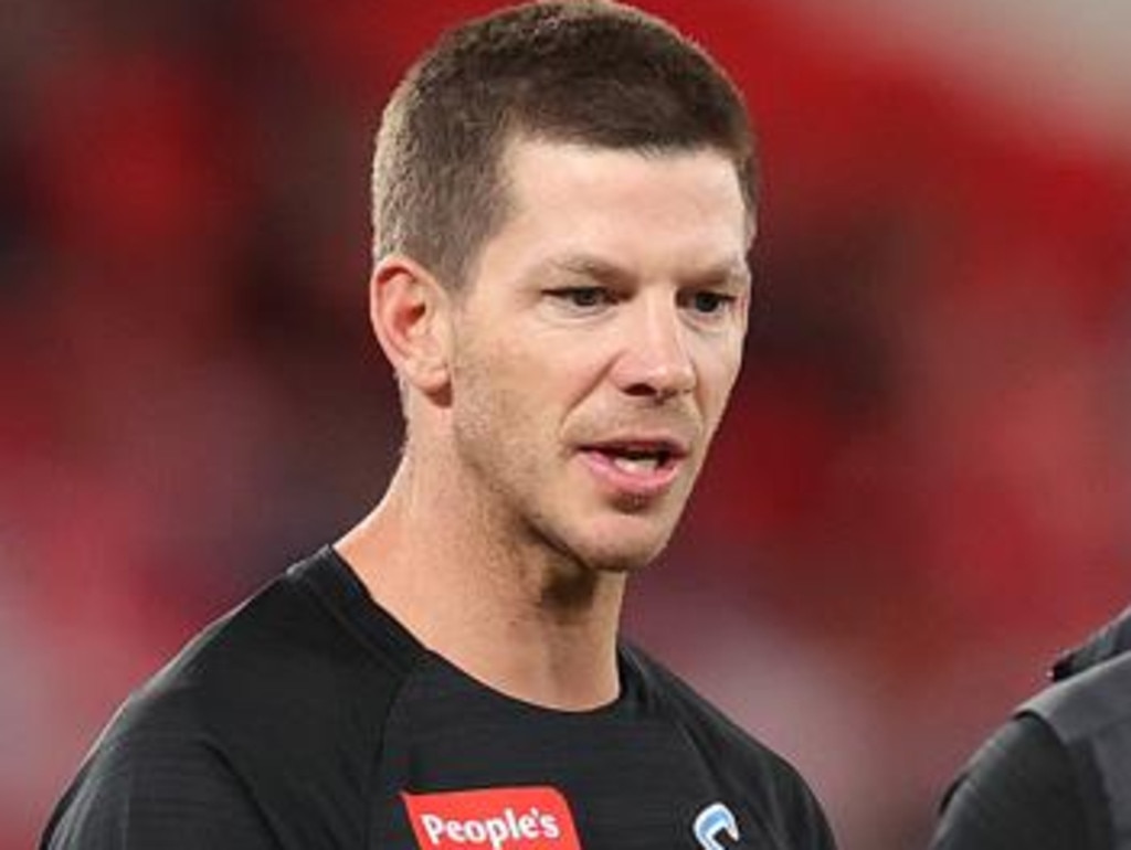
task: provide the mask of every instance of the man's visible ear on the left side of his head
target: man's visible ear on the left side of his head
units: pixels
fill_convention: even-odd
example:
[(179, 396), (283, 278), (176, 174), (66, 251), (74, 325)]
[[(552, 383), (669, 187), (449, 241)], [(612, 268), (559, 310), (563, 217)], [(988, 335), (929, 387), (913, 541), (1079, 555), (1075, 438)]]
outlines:
[(450, 298), (428, 269), (404, 255), (381, 259), (370, 278), (369, 318), (403, 381), (433, 398), (447, 391)]

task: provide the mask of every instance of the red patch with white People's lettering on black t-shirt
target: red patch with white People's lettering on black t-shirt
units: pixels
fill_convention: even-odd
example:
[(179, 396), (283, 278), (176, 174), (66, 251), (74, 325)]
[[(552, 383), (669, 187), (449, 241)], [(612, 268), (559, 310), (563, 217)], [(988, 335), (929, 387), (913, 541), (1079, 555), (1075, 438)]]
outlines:
[(421, 850), (581, 850), (555, 788), (400, 795)]

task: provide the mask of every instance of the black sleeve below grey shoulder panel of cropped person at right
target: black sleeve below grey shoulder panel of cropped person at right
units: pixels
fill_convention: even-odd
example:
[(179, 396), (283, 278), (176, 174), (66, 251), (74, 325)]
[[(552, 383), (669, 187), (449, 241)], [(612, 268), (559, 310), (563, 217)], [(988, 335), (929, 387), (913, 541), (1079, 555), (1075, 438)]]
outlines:
[[(1104, 799), (1090, 765), (1033, 714), (979, 749), (944, 803), (932, 850), (1106, 850), (1111, 836), (1089, 801)], [(1096, 816), (1100, 815), (1100, 816)]]

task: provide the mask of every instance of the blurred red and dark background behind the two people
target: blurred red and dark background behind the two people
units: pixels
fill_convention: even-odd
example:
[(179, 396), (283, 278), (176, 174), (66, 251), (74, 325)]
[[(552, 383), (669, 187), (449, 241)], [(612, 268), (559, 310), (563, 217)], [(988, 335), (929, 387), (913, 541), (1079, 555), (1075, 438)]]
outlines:
[[(641, 3), (731, 69), (767, 187), (743, 379), (629, 626), (846, 850), (921, 845), (1128, 601), (1131, 68), (1056, 3)], [(0, 845), (131, 687), (379, 496), (371, 137), (416, 52), (498, 5), (6, 6)]]

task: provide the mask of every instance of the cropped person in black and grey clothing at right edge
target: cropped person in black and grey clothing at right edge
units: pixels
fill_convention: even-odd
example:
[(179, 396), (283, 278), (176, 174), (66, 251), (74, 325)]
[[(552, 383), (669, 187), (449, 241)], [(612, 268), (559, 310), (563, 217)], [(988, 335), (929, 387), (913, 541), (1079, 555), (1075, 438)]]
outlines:
[(1053, 668), (951, 788), (934, 850), (1131, 848), (1131, 609)]

